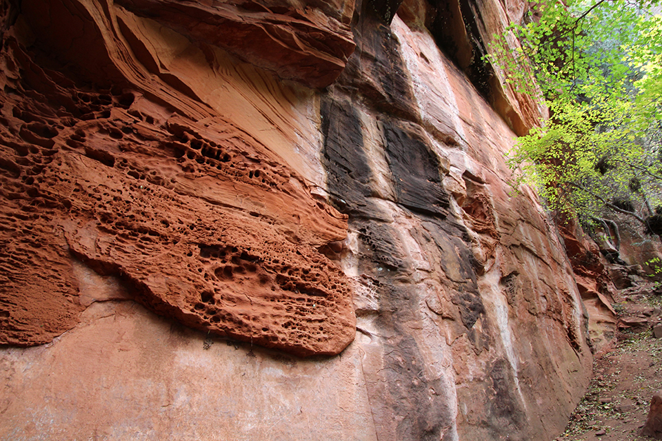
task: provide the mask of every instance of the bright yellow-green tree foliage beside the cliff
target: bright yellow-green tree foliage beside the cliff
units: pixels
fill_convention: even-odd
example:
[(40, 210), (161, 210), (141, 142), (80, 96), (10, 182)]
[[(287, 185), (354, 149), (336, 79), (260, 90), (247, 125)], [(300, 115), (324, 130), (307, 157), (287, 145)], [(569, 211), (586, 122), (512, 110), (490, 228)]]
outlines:
[(525, 23), (494, 36), (490, 62), (513, 90), (550, 109), (509, 162), (552, 209), (590, 218), (608, 207), (644, 223), (611, 201), (632, 199), (649, 211), (662, 202), (656, 2), (542, 0)]

